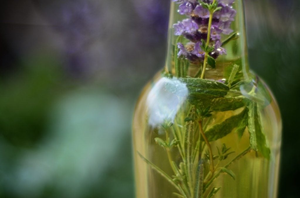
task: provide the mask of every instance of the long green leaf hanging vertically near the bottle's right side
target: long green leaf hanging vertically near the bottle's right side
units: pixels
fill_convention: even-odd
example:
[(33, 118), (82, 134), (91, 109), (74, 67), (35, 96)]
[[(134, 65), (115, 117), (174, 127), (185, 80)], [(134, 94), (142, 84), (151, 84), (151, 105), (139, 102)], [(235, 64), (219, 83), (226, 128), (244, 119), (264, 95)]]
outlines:
[(262, 156), (270, 158), (270, 148), (262, 130), (262, 121), (258, 104), (253, 102), (249, 106), (248, 131), (250, 133), (250, 145), (253, 150), (259, 151)]

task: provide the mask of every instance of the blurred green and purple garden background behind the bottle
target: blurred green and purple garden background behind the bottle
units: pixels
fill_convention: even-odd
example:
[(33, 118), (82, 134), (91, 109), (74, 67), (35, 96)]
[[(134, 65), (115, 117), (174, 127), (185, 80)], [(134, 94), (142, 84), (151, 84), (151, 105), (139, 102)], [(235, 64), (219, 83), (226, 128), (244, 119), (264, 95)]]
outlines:
[[(282, 112), (279, 197), (299, 197), (299, 0), (244, 1), (251, 68)], [(1, 1), (0, 197), (134, 197), (131, 118), (169, 4)]]

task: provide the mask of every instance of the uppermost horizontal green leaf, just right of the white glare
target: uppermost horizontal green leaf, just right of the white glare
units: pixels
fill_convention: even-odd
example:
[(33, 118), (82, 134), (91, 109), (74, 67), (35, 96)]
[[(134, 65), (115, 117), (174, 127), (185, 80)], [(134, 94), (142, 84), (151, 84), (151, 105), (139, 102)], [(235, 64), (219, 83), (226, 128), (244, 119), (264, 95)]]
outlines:
[(212, 97), (222, 97), (227, 95), (229, 87), (224, 83), (200, 78), (179, 78), (185, 83), (191, 95), (206, 95)]

